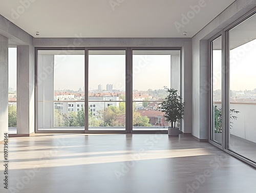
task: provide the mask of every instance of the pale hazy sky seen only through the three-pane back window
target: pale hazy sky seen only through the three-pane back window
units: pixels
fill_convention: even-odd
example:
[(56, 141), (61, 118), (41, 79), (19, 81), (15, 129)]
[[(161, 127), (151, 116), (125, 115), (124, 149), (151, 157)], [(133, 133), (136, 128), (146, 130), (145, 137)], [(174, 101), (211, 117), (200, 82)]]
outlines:
[[(84, 87), (84, 56), (68, 55), (63, 59), (55, 55), (54, 89), (78, 90)], [(135, 55), (133, 59), (133, 89), (163, 89), (170, 86), (170, 55)], [(125, 55), (90, 55), (89, 90), (106, 90), (106, 84), (113, 89), (125, 91)]]

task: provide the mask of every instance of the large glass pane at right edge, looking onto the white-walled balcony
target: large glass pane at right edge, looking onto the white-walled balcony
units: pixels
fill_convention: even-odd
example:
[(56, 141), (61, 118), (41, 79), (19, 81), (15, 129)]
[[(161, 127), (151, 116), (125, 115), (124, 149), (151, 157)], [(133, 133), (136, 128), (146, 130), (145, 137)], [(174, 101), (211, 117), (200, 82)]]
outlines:
[(256, 15), (229, 31), (231, 151), (256, 162)]

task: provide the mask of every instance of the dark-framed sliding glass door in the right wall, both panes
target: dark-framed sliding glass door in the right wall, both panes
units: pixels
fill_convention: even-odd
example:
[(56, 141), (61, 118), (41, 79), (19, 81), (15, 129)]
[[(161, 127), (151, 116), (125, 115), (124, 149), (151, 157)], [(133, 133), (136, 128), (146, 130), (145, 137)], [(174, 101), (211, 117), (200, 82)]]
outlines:
[(256, 12), (209, 39), (209, 142), (255, 166)]

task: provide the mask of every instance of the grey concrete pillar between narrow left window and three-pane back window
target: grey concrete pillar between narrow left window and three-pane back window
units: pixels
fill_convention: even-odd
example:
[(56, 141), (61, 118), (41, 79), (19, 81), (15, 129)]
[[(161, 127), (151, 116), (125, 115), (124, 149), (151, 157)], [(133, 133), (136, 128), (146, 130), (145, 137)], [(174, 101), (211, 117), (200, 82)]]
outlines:
[(17, 46), (17, 134), (35, 131), (35, 59), (33, 46)]

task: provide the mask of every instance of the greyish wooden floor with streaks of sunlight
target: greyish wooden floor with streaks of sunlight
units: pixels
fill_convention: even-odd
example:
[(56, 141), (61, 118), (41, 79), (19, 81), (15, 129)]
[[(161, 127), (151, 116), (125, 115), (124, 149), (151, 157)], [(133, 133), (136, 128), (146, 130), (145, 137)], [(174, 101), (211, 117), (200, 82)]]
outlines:
[[(256, 170), (217, 147), (167, 134), (9, 138), (9, 189), (21, 193), (255, 193)], [(11, 188), (11, 189), (10, 189)]]

